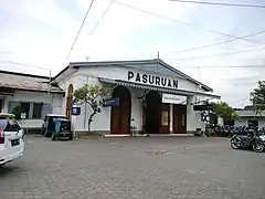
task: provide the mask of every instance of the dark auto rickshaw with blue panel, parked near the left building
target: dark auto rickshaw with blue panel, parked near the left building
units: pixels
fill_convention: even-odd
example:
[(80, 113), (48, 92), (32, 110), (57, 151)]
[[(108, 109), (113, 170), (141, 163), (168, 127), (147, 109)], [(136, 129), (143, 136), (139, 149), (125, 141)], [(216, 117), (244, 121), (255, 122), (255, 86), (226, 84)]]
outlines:
[(65, 115), (46, 114), (41, 132), (45, 137), (52, 137), (52, 140), (59, 137), (73, 139), (71, 121)]

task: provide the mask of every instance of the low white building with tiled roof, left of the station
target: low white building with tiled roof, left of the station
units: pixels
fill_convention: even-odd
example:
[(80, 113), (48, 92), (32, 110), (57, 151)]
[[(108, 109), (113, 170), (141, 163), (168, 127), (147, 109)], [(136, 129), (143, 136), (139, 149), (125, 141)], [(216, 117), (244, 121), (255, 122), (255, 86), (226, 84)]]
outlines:
[(61, 114), (64, 91), (49, 86), (50, 77), (0, 71), (0, 112), (23, 108), (23, 128), (40, 129), (45, 114)]

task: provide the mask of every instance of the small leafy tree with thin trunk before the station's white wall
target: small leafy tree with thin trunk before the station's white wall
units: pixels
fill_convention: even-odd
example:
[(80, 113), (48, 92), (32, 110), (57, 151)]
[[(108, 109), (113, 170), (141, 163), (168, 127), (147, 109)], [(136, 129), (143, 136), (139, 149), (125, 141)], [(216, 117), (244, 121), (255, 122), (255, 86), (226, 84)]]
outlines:
[(113, 87), (105, 84), (84, 84), (74, 92), (75, 102), (86, 103), (92, 108), (92, 114), (88, 117), (88, 133), (91, 133), (94, 116), (102, 112), (104, 97), (112, 96), (112, 93)]

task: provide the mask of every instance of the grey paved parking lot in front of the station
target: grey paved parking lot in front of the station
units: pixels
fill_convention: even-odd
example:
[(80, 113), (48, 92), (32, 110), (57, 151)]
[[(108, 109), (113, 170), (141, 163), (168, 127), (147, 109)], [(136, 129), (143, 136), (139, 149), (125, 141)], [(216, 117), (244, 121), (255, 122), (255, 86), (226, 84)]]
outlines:
[(0, 168), (1, 199), (265, 198), (265, 154), (226, 138), (138, 137), (51, 142)]

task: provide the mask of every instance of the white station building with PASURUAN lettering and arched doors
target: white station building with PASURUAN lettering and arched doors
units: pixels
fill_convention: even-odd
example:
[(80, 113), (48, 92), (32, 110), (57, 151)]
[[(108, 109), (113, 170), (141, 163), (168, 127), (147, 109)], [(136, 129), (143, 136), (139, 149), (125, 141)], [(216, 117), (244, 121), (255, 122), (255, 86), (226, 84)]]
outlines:
[[(113, 97), (119, 98), (118, 106), (103, 107), (95, 115), (92, 132), (99, 134), (129, 134), (131, 126), (149, 134), (192, 133), (204, 125), (193, 105), (220, 98), (212, 88), (161, 60), (78, 62), (70, 63), (52, 81), (65, 91), (61, 114), (71, 113), (74, 91), (86, 83), (113, 85)], [(74, 128), (87, 132), (92, 109), (87, 104), (78, 106), (81, 115), (71, 117)]]

